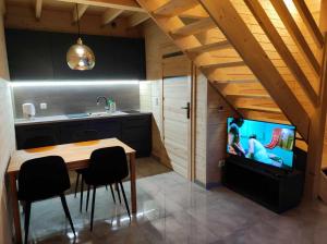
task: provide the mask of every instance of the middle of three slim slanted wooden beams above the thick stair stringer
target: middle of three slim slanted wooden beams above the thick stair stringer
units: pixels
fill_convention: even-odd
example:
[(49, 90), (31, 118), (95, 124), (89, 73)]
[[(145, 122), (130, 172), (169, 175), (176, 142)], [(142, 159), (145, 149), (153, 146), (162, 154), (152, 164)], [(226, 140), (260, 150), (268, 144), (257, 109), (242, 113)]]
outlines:
[(319, 76), (320, 64), (318, 63), (317, 59), (315, 58), (314, 53), (308, 47), (304, 36), (301, 33), (301, 29), (299, 28), (290, 11), (288, 10), (288, 7), (283, 2), (283, 0), (275, 0), (270, 2), (275, 8), (276, 12), (278, 13), (280, 20), (284, 24), (286, 28), (288, 29), (289, 34), (293, 38), (294, 42), (296, 44), (298, 48), (303, 52), (307, 62), (311, 64), (313, 70), (316, 72), (316, 74)]

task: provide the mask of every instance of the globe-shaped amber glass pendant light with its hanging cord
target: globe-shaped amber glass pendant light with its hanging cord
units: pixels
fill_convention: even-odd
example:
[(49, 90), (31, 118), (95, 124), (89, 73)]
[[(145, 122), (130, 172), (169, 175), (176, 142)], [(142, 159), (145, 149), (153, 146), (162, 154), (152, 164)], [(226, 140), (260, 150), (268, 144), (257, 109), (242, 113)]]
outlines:
[(83, 45), (81, 38), (81, 28), (80, 28), (80, 16), (78, 16), (78, 7), (76, 3), (76, 15), (77, 15), (77, 27), (78, 27), (78, 39), (77, 44), (70, 47), (66, 52), (66, 63), (72, 70), (77, 71), (87, 71), (92, 70), (95, 65), (95, 56), (89, 47)]

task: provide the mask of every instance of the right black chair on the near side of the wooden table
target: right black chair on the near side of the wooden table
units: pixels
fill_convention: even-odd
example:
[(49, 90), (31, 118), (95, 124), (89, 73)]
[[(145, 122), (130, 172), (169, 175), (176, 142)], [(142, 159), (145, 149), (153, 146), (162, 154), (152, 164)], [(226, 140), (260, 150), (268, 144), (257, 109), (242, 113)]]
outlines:
[(92, 152), (89, 160), (90, 163), (88, 170), (84, 174), (84, 179), (88, 185), (87, 203), (89, 196), (89, 186), (93, 186), (90, 231), (93, 230), (96, 190), (101, 185), (109, 184), (111, 186), (111, 184), (117, 184), (118, 190), (119, 186), (121, 187), (125, 207), (131, 220), (130, 207), (122, 184), (122, 180), (129, 175), (129, 166), (124, 149), (122, 147), (100, 148)]

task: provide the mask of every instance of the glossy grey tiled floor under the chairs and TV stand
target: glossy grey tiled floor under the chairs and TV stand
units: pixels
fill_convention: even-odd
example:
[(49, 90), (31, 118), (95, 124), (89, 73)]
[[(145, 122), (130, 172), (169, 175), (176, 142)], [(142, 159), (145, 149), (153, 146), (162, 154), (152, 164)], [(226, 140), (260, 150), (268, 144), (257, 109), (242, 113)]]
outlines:
[[(129, 182), (124, 186), (130, 194)], [(89, 212), (80, 213), (80, 198), (69, 195), (75, 243), (327, 243), (327, 206), (318, 200), (276, 215), (222, 186), (205, 191), (168, 172), (137, 180), (137, 202), (130, 223), (124, 207), (99, 190), (90, 233)], [(32, 243), (74, 243), (60, 199), (33, 206), (29, 237)]]

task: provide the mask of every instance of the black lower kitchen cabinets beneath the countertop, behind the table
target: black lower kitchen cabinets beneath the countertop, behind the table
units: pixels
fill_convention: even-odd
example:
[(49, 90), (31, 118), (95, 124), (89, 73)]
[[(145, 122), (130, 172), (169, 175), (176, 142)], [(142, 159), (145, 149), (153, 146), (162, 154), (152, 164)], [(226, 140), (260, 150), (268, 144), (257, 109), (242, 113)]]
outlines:
[(15, 131), (17, 149), (117, 137), (134, 148), (136, 157), (152, 152), (150, 114), (16, 125)]

